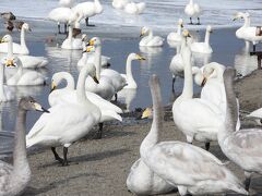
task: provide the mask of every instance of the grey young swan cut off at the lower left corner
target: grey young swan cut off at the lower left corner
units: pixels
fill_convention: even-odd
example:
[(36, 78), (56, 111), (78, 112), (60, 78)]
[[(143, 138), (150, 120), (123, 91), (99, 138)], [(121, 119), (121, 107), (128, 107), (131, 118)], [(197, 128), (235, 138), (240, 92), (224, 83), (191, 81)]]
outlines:
[(25, 148), (25, 121), (27, 111), (48, 112), (32, 97), (22, 98), (14, 132), (13, 166), (0, 161), (0, 195), (21, 195), (31, 180), (31, 169)]

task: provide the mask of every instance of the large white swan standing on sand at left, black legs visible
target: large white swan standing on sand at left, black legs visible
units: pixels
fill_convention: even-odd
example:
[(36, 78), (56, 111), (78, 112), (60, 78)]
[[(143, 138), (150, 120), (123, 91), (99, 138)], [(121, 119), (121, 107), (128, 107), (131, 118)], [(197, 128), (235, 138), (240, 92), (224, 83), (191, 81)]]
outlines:
[[(94, 66), (82, 69), (78, 87), (78, 103), (61, 103), (43, 114), (26, 135), (26, 147), (44, 145), (52, 147), (56, 160), (68, 164), (68, 147), (85, 136), (100, 121), (100, 110), (85, 95), (84, 82), (87, 75), (95, 76)], [(55, 147), (63, 146), (63, 160), (57, 155)]]

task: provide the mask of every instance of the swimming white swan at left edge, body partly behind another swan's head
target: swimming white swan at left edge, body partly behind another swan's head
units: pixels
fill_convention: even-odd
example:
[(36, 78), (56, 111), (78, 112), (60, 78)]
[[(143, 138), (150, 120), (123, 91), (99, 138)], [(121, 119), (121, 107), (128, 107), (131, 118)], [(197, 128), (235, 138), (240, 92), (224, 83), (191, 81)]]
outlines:
[[(11, 35), (3, 36), (1, 42), (8, 42), (8, 54), (7, 58), (13, 57), (13, 38)], [(34, 56), (17, 56), (22, 62), (23, 68), (44, 68), (48, 64), (47, 58), (34, 57)]]

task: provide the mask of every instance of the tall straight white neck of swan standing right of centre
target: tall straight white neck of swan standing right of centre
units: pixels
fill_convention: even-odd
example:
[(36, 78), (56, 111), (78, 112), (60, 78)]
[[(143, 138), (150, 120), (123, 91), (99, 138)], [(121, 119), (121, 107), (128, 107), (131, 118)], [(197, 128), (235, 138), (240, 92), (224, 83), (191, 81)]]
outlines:
[[(184, 49), (188, 52), (190, 52), (188, 47)], [(192, 98), (193, 97), (193, 76), (192, 76), (192, 65), (191, 65), (191, 53), (190, 53), (190, 58), (187, 58), (187, 59), (183, 58), (183, 63), (184, 63), (184, 70), (183, 70), (184, 79), (183, 79), (183, 90), (181, 96), (183, 98)]]

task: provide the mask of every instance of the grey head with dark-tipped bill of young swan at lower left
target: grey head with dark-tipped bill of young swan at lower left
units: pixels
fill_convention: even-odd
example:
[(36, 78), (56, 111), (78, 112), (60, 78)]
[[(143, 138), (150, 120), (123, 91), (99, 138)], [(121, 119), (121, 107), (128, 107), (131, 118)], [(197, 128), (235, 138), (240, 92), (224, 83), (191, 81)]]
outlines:
[(19, 107), (27, 111), (40, 111), (49, 113), (49, 111), (43, 108), (38, 102), (36, 102), (33, 97), (22, 98), (20, 100)]

